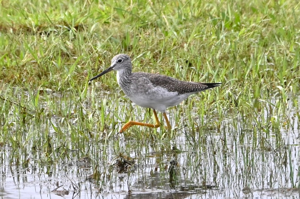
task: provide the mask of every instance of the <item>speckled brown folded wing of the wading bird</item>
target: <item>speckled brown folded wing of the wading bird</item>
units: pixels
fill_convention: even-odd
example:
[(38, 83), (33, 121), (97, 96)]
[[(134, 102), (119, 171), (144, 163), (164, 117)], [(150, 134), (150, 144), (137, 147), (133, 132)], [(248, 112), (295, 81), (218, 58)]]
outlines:
[(153, 85), (166, 88), (169, 92), (178, 92), (178, 94), (200, 92), (206, 89), (220, 86), (220, 83), (185, 82), (166, 75), (150, 74), (144, 72), (137, 72), (135, 73), (135, 76), (146, 77)]

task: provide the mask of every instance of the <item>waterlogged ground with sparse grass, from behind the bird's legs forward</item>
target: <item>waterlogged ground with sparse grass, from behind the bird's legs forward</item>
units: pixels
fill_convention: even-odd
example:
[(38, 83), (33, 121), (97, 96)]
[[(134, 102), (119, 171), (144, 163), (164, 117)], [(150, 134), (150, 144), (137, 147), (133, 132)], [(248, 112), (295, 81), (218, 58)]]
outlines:
[[(112, 94), (95, 95), (98, 103)], [(62, 96), (55, 93), (51, 100), (41, 101), (41, 107), (49, 103), (61, 104), (62, 109), (71, 106), (76, 115), (79, 107), (67, 104), (67, 97)], [(120, 108), (131, 107), (126, 98), (121, 101)], [(172, 133), (132, 127), (130, 132), (116, 135), (121, 126), (117, 122), (116, 128), (109, 125), (101, 135), (97, 122), (94, 132), (74, 133), (74, 129), (81, 130), (77, 116), (67, 123), (74, 129), (65, 127), (63, 120), (67, 119), (57, 115), (49, 119), (51, 125), (26, 124), (28, 131), (21, 135), (26, 142), (18, 143), (19, 150), (1, 145), (1, 198), (299, 198), (298, 112), (287, 101), (282, 117), (277, 102), (275, 97), (257, 102), (265, 108), (256, 109), (253, 121), (234, 114), (235, 106), (224, 107), (223, 114), (228, 116), (218, 127), (212, 122), (217, 120), (216, 104), (211, 105), (211, 115), (203, 118), (204, 125), (198, 126), (202, 121), (195, 114), (197, 106), (187, 101), (194, 104), (191, 110), (184, 109), (184, 104), (170, 109)], [(98, 112), (109, 115), (108, 109), (113, 107), (105, 110), (103, 106), (84, 117), (98, 121)], [(92, 109), (88, 105), (83, 108)], [(146, 116), (153, 121), (151, 112), (149, 116), (140, 107), (130, 111), (137, 119)], [(189, 123), (190, 115), (196, 126)], [(11, 113), (10, 136), (17, 140), (14, 119)], [(38, 135), (42, 131), (46, 138)]]

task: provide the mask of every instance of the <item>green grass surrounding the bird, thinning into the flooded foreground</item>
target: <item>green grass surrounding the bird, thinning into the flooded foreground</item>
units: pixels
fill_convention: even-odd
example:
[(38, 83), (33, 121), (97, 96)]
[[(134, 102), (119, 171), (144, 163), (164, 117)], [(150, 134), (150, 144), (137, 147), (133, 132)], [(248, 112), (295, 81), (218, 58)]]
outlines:
[[(130, 157), (141, 168), (122, 183), (139, 191), (155, 162), (161, 170), (151, 179), (166, 184), (163, 167), (175, 159), (177, 188), (215, 185), (225, 196), (298, 188), (299, 8), (292, 0), (2, 0), (2, 170), (39, 168), (65, 179), (64, 163), (89, 157), (86, 175), (104, 191), (118, 186), (113, 162)], [(171, 133), (134, 126), (116, 139), (121, 122), (154, 122), (132, 106), (114, 72), (88, 83), (119, 53), (130, 55), (133, 71), (222, 85), (170, 109)], [(68, 169), (68, 185), (82, 182)]]

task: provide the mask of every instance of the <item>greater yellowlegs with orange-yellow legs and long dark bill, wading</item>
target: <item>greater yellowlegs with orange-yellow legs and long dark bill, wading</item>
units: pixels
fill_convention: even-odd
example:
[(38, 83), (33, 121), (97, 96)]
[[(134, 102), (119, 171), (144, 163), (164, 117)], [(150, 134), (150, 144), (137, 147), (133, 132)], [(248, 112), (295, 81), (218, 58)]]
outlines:
[(178, 105), (192, 94), (220, 86), (221, 84), (186, 82), (165, 75), (131, 72), (131, 59), (126, 54), (118, 54), (113, 57), (110, 67), (91, 78), (90, 81), (112, 70), (117, 71), (117, 82), (125, 95), (141, 107), (152, 108), (156, 121), (155, 124), (128, 121), (120, 130), (120, 133), (134, 125), (152, 128), (160, 127), (161, 123), (158, 120), (156, 110), (163, 113), (167, 124), (166, 128), (170, 130), (171, 125), (165, 112), (168, 107)]

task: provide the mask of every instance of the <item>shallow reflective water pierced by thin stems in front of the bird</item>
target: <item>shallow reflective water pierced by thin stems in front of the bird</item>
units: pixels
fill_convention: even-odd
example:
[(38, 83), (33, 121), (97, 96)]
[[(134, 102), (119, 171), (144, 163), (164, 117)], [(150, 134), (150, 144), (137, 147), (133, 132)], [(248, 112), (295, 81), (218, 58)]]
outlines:
[[(66, 104), (62, 106), (67, 107)], [(292, 105), (289, 104), (289, 107)], [(247, 126), (253, 121), (247, 123), (238, 116), (224, 120), (220, 130), (200, 127), (199, 132), (193, 134), (187, 125), (176, 131), (170, 143), (165, 143), (164, 139), (156, 139), (155, 142), (146, 138), (128, 139), (124, 135), (103, 137), (106, 141), (99, 142), (102, 144), (100, 147), (87, 146), (96, 153), (89, 152), (91, 159), (77, 158), (80, 153), (76, 143), (71, 143), (69, 148), (72, 150), (65, 159), (61, 159), (59, 164), (48, 162), (47, 166), (38, 163), (43, 151), (33, 152), (32, 146), (27, 147), (30, 149), (28, 151), (14, 151), (10, 146), (3, 145), (0, 148), (0, 196), (299, 198), (300, 189), (295, 187), (299, 187), (300, 124), (295, 119), (297, 110), (290, 108), (288, 111), (289, 117), (284, 120), (291, 121), (291, 126), (282, 125), (279, 134), (274, 130), (266, 136), (258, 124), (250, 129)], [(175, 112), (176, 109), (170, 109), (170, 121), (173, 121)], [(142, 113), (145, 112), (142, 110)], [(267, 120), (269, 111), (265, 109), (263, 116)], [(52, 122), (59, 123), (57, 118), (53, 116)], [(182, 119), (185, 119), (184, 116)], [(234, 123), (238, 123), (237, 127)], [(53, 139), (58, 139), (55, 130), (51, 126), (48, 128)], [(136, 129), (144, 131), (144, 127)], [(254, 136), (259, 137), (255, 142)], [(89, 142), (94, 140), (89, 139)], [(178, 150), (172, 150), (173, 147)], [(99, 148), (104, 149), (105, 153)], [(134, 165), (129, 166), (126, 172), (116, 166), (120, 159), (116, 154), (119, 153), (134, 158)], [(27, 159), (28, 164), (24, 164)], [(17, 161), (23, 163), (22, 166)], [(175, 162), (173, 179), (168, 172), (172, 161)], [(91, 180), (95, 165), (101, 171), (98, 182)]]

